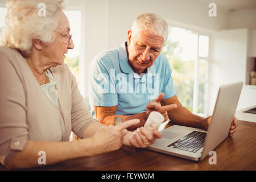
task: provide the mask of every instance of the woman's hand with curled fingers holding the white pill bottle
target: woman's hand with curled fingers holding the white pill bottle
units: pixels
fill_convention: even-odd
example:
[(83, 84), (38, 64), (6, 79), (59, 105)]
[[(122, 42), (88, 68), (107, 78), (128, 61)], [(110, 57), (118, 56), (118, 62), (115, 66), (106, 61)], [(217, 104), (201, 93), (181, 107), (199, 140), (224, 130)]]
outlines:
[(138, 129), (133, 131), (130, 135), (129, 142), (131, 146), (146, 148), (155, 143), (157, 138), (162, 138), (162, 134), (158, 130), (154, 130), (154, 132), (151, 133), (145, 127), (138, 127)]

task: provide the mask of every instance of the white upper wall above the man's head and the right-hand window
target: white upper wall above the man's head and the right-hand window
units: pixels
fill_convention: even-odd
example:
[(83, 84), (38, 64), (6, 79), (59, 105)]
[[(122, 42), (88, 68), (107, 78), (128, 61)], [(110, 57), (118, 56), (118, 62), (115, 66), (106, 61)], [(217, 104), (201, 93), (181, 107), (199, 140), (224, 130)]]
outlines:
[(126, 40), (127, 31), (133, 20), (142, 13), (162, 15), (170, 26), (217, 31), (228, 28), (228, 13), (221, 8), (217, 17), (209, 17), (208, 4), (191, 0), (129, 0), (109, 1), (109, 47)]

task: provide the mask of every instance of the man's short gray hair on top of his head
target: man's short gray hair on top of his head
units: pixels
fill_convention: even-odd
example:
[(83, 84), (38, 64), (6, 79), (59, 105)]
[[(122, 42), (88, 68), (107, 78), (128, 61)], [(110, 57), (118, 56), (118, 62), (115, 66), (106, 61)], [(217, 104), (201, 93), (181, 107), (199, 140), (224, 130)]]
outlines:
[(133, 22), (131, 31), (135, 28), (138, 30), (148, 30), (155, 35), (162, 36), (164, 39), (163, 45), (167, 42), (168, 38), (168, 24), (162, 16), (155, 13), (144, 13), (139, 15)]

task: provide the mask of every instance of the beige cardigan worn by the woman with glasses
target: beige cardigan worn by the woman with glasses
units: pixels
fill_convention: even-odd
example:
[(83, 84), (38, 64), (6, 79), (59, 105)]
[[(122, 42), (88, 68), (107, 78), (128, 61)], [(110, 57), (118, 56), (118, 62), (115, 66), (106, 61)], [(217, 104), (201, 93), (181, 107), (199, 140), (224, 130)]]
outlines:
[[(15, 49), (0, 47), (0, 162), (5, 165), (27, 140), (68, 141), (82, 137), (95, 122), (66, 64), (50, 68), (56, 81), (58, 109)], [(63, 117), (63, 118), (62, 118)]]

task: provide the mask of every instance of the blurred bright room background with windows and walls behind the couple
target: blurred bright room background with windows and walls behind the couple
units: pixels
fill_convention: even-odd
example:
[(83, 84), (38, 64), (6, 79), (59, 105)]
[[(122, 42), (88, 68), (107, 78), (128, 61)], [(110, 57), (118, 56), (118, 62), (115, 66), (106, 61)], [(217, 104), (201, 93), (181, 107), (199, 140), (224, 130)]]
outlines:
[[(0, 28), (5, 26), (5, 0), (0, 0)], [(214, 3), (216, 7), (209, 6)], [(212, 12), (216, 10), (215, 16)], [(221, 84), (243, 81), (237, 109), (256, 105), (256, 0), (72, 0), (64, 11), (75, 49), (65, 63), (88, 96), (89, 64), (97, 53), (127, 39), (142, 13), (167, 20), (167, 56), (181, 104), (193, 113), (211, 115)], [(256, 79), (256, 78), (255, 78)]]

